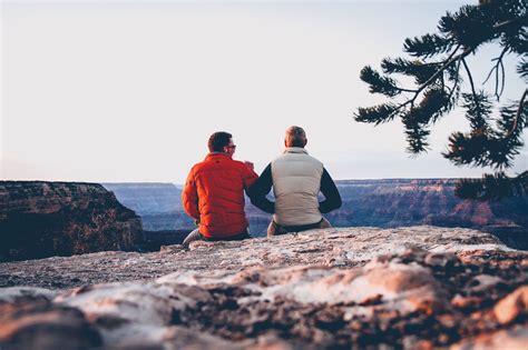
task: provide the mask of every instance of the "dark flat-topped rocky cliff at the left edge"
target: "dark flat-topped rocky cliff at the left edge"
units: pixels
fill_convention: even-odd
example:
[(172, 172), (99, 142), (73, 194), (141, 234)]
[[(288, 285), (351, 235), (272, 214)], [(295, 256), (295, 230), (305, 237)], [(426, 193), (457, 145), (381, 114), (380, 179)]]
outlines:
[(133, 250), (139, 217), (100, 184), (0, 182), (0, 261)]

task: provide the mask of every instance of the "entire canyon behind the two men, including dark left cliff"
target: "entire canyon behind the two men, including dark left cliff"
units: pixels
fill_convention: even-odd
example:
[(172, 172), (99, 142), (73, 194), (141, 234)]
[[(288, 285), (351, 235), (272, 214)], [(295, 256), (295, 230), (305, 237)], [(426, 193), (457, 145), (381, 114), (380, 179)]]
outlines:
[[(469, 201), (451, 179), (336, 181), (343, 206), (326, 214), (334, 227), (432, 224), (487, 231), (528, 249), (528, 199)], [(156, 251), (194, 229), (173, 183), (0, 182), (0, 261), (102, 250)], [(247, 200), (254, 237), (271, 216)]]

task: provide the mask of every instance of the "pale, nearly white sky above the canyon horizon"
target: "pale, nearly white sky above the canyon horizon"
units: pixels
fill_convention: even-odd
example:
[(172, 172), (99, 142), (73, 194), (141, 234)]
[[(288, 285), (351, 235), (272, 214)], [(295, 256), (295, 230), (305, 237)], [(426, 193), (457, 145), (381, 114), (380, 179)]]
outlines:
[[(407, 37), (476, 2), (4, 1), (0, 178), (183, 183), (218, 130), (261, 172), (292, 124), (334, 179), (480, 177), (440, 154), (468, 130), (461, 111), (418, 158), (399, 121), (352, 119), (385, 100), (368, 92), (363, 66), (402, 56)], [(498, 52), (469, 60), (477, 84)], [(515, 62), (501, 101), (525, 89)], [(525, 147), (509, 173), (527, 168)]]

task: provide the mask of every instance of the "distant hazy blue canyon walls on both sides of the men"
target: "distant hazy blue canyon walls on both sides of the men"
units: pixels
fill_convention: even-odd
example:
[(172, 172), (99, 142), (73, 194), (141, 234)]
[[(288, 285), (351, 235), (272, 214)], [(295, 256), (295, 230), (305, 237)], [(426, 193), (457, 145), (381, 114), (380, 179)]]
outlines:
[[(426, 223), (485, 229), (505, 237), (510, 232), (527, 232), (528, 198), (488, 202), (461, 200), (454, 196), (454, 184), (453, 179), (336, 181), (343, 206), (326, 217), (336, 227), (389, 228)], [(115, 191), (126, 207), (137, 208), (146, 230), (194, 228), (193, 220), (183, 211), (180, 191), (174, 184), (105, 186)], [(252, 234), (265, 234), (271, 216), (248, 201), (246, 214)]]

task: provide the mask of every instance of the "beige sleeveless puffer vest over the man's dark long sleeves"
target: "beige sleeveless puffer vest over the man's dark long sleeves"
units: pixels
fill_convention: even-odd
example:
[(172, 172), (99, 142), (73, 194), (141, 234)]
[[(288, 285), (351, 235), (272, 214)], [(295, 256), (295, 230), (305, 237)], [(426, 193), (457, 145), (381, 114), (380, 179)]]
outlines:
[(317, 194), (322, 176), (323, 163), (309, 156), (304, 148), (286, 148), (284, 154), (272, 162), (273, 220), (280, 226), (321, 221)]

